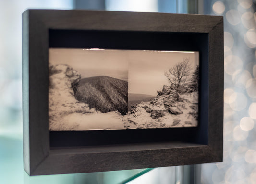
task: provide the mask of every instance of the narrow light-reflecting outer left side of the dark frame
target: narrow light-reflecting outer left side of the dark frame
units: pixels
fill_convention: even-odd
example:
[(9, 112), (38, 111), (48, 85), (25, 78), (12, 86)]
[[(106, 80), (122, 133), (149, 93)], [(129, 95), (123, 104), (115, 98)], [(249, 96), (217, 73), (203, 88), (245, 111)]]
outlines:
[(23, 114), (23, 162), (30, 174), (29, 144), (29, 10), (22, 14), (22, 114)]

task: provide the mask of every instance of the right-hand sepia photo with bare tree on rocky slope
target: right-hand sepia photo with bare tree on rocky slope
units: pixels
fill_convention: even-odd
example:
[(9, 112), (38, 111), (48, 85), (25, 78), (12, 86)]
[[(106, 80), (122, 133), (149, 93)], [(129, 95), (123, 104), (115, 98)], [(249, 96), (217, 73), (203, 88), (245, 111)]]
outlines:
[(128, 128), (198, 124), (199, 52), (130, 51)]

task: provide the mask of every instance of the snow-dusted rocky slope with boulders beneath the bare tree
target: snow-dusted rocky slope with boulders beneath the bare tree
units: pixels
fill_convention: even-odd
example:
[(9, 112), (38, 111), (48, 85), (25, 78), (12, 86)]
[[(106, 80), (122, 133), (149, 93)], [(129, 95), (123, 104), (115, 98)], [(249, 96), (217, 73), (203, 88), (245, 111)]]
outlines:
[[(198, 93), (184, 93), (180, 100), (175, 97), (172, 87), (164, 86), (163, 91), (150, 101), (140, 102), (127, 114), (126, 127), (162, 128), (191, 127), (197, 125)], [(135, 125), (136, 124), (136, 125)]]

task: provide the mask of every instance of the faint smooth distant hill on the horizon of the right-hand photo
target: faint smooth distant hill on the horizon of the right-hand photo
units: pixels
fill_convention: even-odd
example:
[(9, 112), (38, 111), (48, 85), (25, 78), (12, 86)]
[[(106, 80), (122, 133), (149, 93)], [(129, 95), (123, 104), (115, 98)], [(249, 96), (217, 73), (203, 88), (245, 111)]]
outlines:
[(131, 110), (131, 106), (134, 106), (140, 102), (150, 101), (154, 97), (155, 96), (152, 96), (152, 95), (129, 93), (128, 94), (128, 111)]

